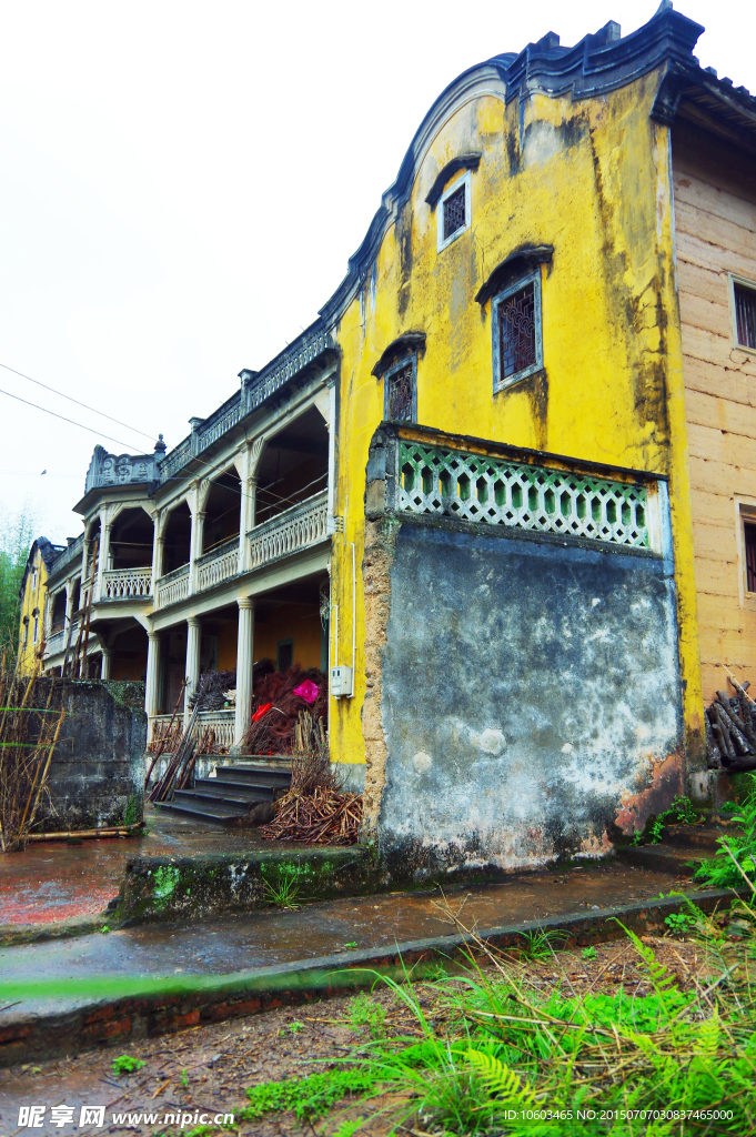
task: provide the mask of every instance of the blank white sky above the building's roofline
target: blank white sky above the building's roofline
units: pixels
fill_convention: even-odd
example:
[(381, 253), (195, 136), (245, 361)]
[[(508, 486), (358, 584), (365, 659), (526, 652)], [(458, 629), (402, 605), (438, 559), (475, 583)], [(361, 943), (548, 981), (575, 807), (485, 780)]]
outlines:
[[(0, 0), (0, 363), (174, 446), (315, 318), (447, 83), (655, 7)], [(701, 64), (756, 92), (756, 3), (675, 7)], [(73, 537), (97, 442), (150, 441), (0, 388), (117, 440), (0, 395), (0, 511)]]

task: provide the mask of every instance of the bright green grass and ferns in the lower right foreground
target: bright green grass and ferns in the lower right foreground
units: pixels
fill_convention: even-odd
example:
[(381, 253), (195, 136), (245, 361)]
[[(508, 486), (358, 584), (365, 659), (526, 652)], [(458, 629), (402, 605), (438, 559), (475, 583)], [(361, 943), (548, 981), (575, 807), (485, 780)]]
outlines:
[[(756, 946), (756, 910), (741, 903), (733, 921)], [(291, 1110), (314, 1126), (344, 1099), (365, 1102), (365, 1115), (374, 1117), (381, 1112), (375, 1097), (391, 1092), (382, 1111), (397, 1135), (406, 1128), (445, 1137), (756, 1132), (756, 987), (747, 953), (737, 965), (726, 962), (717, 918), (690, 903), (686, 927), (718, 969), (696, 990), (682, 990), (632, 932), (649, 989), (643, 996), (622, 987), (612, 995), (564, 986), (545, 993), (475, 937), (491, 966), (482, 969), (471, 955), (462, 977), (438, 981), (433, 1020), (408, 973), (404, 982), (376, 976), (410, 1012), (421, 1040), (373, 1030), (380, 1004), (358, 996), (350, 1019), (371, 1026), (373, 1039), (333, 1070), (250, 1089), (244, 1117)], [(729, 1115), (706, 1113), (712, 1110)], [(689, 1114), (682, 1127), (681, 1111)], [(317, 1131), (356, 1131), (356, 1122), (340, 1130), (338, 1123), (333, 1118)]]

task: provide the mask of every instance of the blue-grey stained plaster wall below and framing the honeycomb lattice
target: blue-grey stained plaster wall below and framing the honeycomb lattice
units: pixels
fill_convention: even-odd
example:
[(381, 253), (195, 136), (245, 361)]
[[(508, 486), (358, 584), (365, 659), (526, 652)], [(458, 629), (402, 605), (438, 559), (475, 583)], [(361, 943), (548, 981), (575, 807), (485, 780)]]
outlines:
[(666, 485), (657, 551), (390, 498), (368, 482), (364, 725), (367, 825), (394, 878), (597, 855), (642, 830), (684, 790)]

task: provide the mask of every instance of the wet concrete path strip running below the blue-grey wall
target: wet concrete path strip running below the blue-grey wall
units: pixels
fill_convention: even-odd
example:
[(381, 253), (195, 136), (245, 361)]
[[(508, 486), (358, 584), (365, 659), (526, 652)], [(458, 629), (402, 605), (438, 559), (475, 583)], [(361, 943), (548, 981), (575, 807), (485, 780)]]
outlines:
[[(513, 877), (500, 883), (468, 886), (448, 894), (467, 927), (481, 929), (545, 916), (599, 912), (690, 888), (661, 872), (615, 861), (564, 872)], [(396, 943), (446, 936), (454, 931), (435, 906), (439, 894), (394, 893), (318, 902), (297, 910), (250, 912), (201, 923), (166, 923), (0, 948), (0, 1012), (3, 987), (44, 980), (51, 988), (24, 999), (10, 1012), (28, 1014), (55, 1003), (75, 1006), (88, 998), (66, 984), (138, 976), (222, 976), (275, 964), (306, 961), (348, 951), (391, 948)], [(6, 1014), (0, 1013), (0, 1023)]]

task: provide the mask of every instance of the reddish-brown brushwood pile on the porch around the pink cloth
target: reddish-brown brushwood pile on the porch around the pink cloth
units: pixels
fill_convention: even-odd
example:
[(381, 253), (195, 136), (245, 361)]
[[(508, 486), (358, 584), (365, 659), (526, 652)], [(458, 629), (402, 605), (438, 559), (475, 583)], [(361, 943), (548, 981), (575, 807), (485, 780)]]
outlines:
[[(309, 679), (318, 689), (314, 704), (309, 704), (294, 688)], [(259, 709), (271, 704), (261, 719), (250, 723), (243, 738), (243, 749), (247, 754), (291, 754), (297, 748), (294, 732), (301, 711), (309, 711), (315, 721), (321, 720), (325, 728), (327, 714), (327, 682), (317, 667), (302, 671), (300, 667), (289, 667), (288, 671), (272, 671), (255, 677), (255, 708)]]

